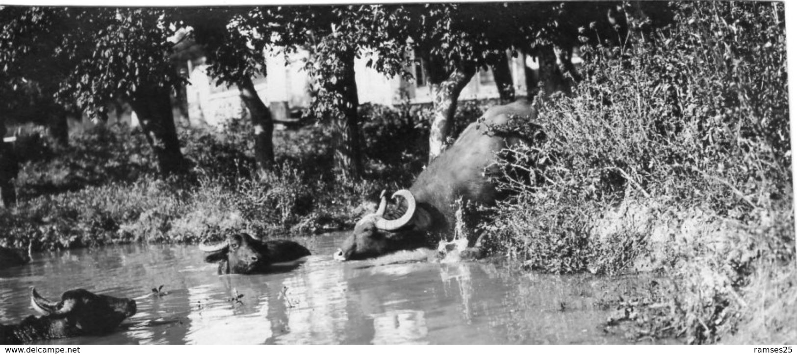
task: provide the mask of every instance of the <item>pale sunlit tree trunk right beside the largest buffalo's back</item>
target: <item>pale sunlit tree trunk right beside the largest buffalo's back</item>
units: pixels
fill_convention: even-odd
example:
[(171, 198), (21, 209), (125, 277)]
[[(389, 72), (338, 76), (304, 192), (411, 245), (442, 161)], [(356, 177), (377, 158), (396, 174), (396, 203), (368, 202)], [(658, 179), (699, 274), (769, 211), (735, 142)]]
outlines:
[(446, 141), (451, 134), (451, 121), (457, 112), (457, 99), (465, 85), (476, 74), (476, 66), (465, 64), (453, 69), (450, 76), (440, 84), (431, 83), (434, 92), (432, 123), (429, 132), (429, 161), (446, 150)]

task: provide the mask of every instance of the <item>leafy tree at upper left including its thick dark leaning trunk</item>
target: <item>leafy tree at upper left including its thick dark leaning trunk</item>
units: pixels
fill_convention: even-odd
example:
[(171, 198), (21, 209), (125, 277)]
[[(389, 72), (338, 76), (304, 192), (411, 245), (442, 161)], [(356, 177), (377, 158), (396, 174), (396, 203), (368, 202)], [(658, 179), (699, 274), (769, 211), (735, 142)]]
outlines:
[[(57, 86), (57, 100), (75, 105), (93, 119), (105, 119), (111, 99), (130, 100), (159, 169), (166, 174), (186, 165), (179, 150), (171, 93), (183, 78), (170, 60), (174, 43), (163, 25), (163, 10), (151, 8), (4, 8), (3, 45), (22, 80), (25, 55), (48, 60), (37, 74), (41, 82)], [(42, 39), (42, 41), (39, 41)], [(13, 49), (15, 46), (19, 49)], [(45, 59), (46, 58), (46, 59)], [(35, 70), (33, 71), (35, 72)]]

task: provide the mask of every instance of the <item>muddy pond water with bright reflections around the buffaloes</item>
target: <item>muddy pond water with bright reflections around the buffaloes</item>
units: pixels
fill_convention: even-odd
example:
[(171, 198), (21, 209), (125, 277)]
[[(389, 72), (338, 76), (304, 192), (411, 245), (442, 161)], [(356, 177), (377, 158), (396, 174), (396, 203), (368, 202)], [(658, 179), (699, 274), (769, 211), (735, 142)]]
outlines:
[[(599, 328), (595, 301), (633, 278), (515, 273), (491, 263), (412, 262), (426, 252), (339, 263), (344, 234), (297, 239), (313, 255), (296, 269), (217, 275), (195, 246), (131, 245), (33, 255), (0, 270), (0, 323), (84, 288), (135, 298), (116, 333), (49, 344), (552, 344), (621, 343)], [(151, 289), (162, 286), (163, 296)], [(616, 298), (616, 296), (614, 297)]]

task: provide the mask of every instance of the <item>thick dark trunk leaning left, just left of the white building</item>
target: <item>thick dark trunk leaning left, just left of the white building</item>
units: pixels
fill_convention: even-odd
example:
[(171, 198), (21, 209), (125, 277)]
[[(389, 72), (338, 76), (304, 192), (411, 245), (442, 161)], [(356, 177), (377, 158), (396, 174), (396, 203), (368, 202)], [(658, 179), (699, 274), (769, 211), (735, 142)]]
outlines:
[(170, 91), (156, 85), (142, 85), (133, 94), (131, 102), (163, 176), (184, 173), (188, 168), (180, 152)]

